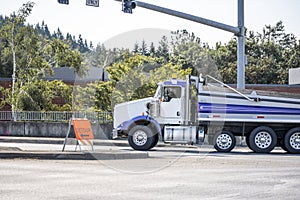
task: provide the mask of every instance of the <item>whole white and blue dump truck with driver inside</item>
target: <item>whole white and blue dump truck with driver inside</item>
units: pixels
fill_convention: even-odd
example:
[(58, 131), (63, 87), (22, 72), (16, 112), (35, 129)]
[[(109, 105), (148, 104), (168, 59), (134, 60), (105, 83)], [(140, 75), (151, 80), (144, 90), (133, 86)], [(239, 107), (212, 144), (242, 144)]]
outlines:
[(280, 146), (300, 153), (300, 98), (240, 92), (210, 76), (171, 79), (158, 84), (154, 97), (115, 106), (113, 138), (120, 135), (136, 150), (207, 137), (217, 151), (230, 152), (241, 136), (254, 152)]

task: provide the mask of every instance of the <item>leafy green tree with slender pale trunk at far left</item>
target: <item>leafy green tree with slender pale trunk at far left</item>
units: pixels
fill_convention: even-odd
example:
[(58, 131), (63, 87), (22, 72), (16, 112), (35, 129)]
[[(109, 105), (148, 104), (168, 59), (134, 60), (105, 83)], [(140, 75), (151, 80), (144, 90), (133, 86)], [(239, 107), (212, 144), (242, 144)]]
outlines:
[[(17, 14), (13, 13), (0, 28), (0, 47), (2, 61), (12, 65), (12, 87), (6, 103), (12, 106), (12, 111), (50, 109), (51, 101), (46, 101), (40, 95), (48, 91), (50, 85), (41, 79), (53, 74), (53, 67), (69, 66), (80, 74), (82, 57), (78, 50), (73, 50), (67, 43), (59, 39), (42, 37), (30, 26), (25, 25), (26, 18), (34, 6), (33, 2), (24, 4)], [(47, 94), (42, 95), (47, 97)]]

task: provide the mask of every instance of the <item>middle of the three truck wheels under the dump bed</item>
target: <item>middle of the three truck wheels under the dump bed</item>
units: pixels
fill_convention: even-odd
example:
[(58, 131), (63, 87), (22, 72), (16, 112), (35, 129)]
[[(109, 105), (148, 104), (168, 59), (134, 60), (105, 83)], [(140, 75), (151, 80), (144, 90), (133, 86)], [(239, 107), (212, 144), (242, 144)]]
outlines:
[(256, 153), (269, 153), (277, 144), (277, 135), (268, 126), (259, 126), (249, 135), (249, 147)]

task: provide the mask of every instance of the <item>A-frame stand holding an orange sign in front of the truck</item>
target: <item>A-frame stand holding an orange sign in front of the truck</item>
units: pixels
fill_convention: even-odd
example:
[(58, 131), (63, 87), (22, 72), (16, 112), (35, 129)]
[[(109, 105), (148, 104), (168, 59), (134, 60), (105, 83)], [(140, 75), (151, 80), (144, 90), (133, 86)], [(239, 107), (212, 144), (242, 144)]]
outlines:
[(74, 133), (76, 136), (75, 151), (77, 150), (77, 146), (79, 146), (80, 151), (83, 150), (83, 147), (86, 147), (87, 150), (88, 147), (90, 147), (91, 150), (94, 151), (94, 144), (93, 144), (94, 135), (92, 132), (91, 122), (87, 119), (82, 119), (82, 118), (70, 118), (69, 128), (66, 134), (62, 151), (65, 151), (65, 147), (72, 127), (74, 128)]

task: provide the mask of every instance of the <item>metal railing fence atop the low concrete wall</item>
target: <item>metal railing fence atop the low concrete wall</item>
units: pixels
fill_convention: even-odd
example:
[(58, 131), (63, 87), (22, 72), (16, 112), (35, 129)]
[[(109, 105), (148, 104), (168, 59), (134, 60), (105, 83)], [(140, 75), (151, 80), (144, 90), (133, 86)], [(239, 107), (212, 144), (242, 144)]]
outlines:
[[(111, 112), (60, 112), (19, 111), (14, 113), (15, 121), (67, 122), (73, 118), (87, 118), (91, 122), (106, 124), (112, 122)], [(13, 121), (11, 111), (0, 111), (0, 121)]]

